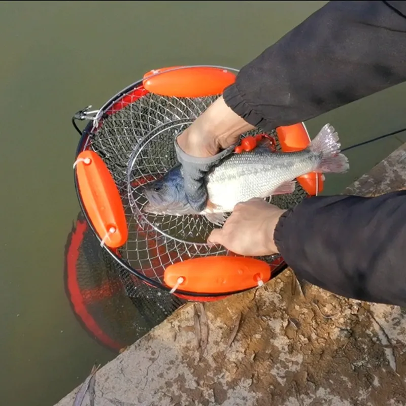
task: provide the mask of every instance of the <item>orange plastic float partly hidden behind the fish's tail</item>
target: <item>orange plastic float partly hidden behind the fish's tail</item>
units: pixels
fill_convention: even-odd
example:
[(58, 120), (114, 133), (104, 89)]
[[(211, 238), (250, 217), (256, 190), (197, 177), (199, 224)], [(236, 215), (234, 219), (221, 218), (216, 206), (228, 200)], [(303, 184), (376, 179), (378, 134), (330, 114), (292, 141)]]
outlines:
[[(310, 144), (309, 135), (302, 123), (277, 127), (278, 140), (283, 152), (301, 151)], [(323, 175), (311, 172), (296, 178), (307, 193), (314, 196), (323, 191)]]

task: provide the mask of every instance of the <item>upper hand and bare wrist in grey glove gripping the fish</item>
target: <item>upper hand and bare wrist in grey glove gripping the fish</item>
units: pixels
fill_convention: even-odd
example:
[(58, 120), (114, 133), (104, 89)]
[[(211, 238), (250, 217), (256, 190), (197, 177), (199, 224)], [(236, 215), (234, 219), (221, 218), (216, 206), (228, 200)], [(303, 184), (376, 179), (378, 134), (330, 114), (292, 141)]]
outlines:
[(185, 193), (196, 212), (201, 212), (207, 205), (206, 173), (232, 153), (243, 132), (253, 128), (225, 104), (223, 97), (219, 97), (175, 139)]

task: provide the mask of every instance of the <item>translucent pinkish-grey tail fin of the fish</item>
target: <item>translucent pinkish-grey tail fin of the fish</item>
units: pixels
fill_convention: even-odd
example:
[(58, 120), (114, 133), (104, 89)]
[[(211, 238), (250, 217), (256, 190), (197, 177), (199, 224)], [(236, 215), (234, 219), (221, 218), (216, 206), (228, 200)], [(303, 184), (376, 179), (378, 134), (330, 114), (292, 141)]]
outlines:
[(326, 124), (310, 143), (309, 150), (322, 155), (315, 172), (343, 173), (350, 168), (347, 157), (340, 153), (339, 135), (334, 127)]

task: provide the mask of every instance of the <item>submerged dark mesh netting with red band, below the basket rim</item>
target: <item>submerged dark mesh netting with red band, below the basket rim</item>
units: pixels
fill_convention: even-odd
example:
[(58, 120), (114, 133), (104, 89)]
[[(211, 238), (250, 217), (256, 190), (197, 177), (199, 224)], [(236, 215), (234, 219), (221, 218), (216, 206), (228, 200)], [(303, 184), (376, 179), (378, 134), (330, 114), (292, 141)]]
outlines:
[(64, 281), (82, 326), (113, 351), (140, 339), (185, 302), (131, 277), (100, 247), (81, 214), (67, 239)]

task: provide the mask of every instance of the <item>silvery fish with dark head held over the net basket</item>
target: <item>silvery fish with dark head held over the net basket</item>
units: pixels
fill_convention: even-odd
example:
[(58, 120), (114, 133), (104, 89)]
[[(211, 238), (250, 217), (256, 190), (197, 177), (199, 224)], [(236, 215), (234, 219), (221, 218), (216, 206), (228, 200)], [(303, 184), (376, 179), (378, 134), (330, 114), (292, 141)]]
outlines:
[(349, 162), (340, 147), (334, 127), (325, 124), (301, 151), (273, 152), (265, 140), (251, 151), (232, 153), (206, 174), (208, 202), (201, 212), (190, 206), (184, 188), (183, 167), (177, 164), (160, 179), (144, 186), (147, 202), (143, 210), (157, 215), (202, 215), (221, 226), (227, 213), (240, 202), (293, 193), (295, 180), (301, 175), (347, 172)]

